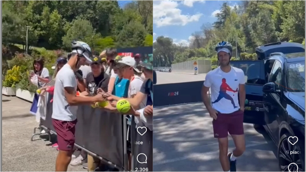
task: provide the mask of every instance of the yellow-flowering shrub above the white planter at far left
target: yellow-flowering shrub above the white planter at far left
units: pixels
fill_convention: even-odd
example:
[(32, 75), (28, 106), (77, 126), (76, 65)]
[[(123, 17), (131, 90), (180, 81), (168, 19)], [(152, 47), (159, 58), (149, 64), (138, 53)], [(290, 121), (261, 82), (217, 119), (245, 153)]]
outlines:
[(12, 69), (7, 70), (3, 87), (16, 87), (20, 80), (20, 67), (15, 65)]

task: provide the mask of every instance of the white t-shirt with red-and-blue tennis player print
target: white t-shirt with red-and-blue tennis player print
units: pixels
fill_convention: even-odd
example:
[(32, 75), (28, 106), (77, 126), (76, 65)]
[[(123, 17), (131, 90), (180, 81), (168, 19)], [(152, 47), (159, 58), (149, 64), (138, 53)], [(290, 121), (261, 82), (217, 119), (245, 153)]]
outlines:
[(220, 67), (207, 73), (204, 86), (211, 88), (212, 107), (222, 114), (239, 110), (239, 84), (245, 84), (242, 69), (231, 67), (230, 72), (223, 72)]

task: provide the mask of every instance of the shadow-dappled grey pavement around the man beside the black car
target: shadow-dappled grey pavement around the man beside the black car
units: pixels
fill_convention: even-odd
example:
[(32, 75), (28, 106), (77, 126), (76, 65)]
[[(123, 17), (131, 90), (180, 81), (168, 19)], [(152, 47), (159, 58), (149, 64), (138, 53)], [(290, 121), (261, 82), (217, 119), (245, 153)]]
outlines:
[[(223, 171), (211, 121), (202, 103), (154, 109), (153, 170)], [(237, 171), (279, 171), (277, 148), (267, 133), (252, 124), (244, 124), (244, 132), (246, 151)]]

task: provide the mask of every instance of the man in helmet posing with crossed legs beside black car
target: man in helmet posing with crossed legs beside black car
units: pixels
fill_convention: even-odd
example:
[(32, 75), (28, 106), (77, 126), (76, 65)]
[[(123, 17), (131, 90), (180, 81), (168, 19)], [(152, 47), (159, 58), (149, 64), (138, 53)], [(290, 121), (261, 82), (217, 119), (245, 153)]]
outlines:
[[(236, 171), (236, 157), (245, 151), (243, 113), (245, 101), (244, 72), (230, 66), (232, 45), (226, 41), (216, 47), (220, 66), (207, 73), (202, 88), (206, 109), (213, 118), (214, 137), (219, 142), (219, 159), (224, 171)], [(207, 94), (211, 88), (211, 101)], [(238, 103), (238, 92), (240, 105)], [(228, 150), (228, 133), (236, 148)]]

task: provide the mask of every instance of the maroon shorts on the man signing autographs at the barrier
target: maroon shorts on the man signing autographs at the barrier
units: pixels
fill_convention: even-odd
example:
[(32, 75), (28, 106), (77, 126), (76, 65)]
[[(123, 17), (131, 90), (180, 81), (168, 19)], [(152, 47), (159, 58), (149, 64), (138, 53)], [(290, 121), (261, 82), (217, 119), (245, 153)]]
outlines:
[(75, 125), (77, 120), (74, 121), (61, 121), (52, 119), (53, 127), (57, 134), (58, 148), (62, 151), (71, 151), (74, 146), (74, 133), (76, 131)]

